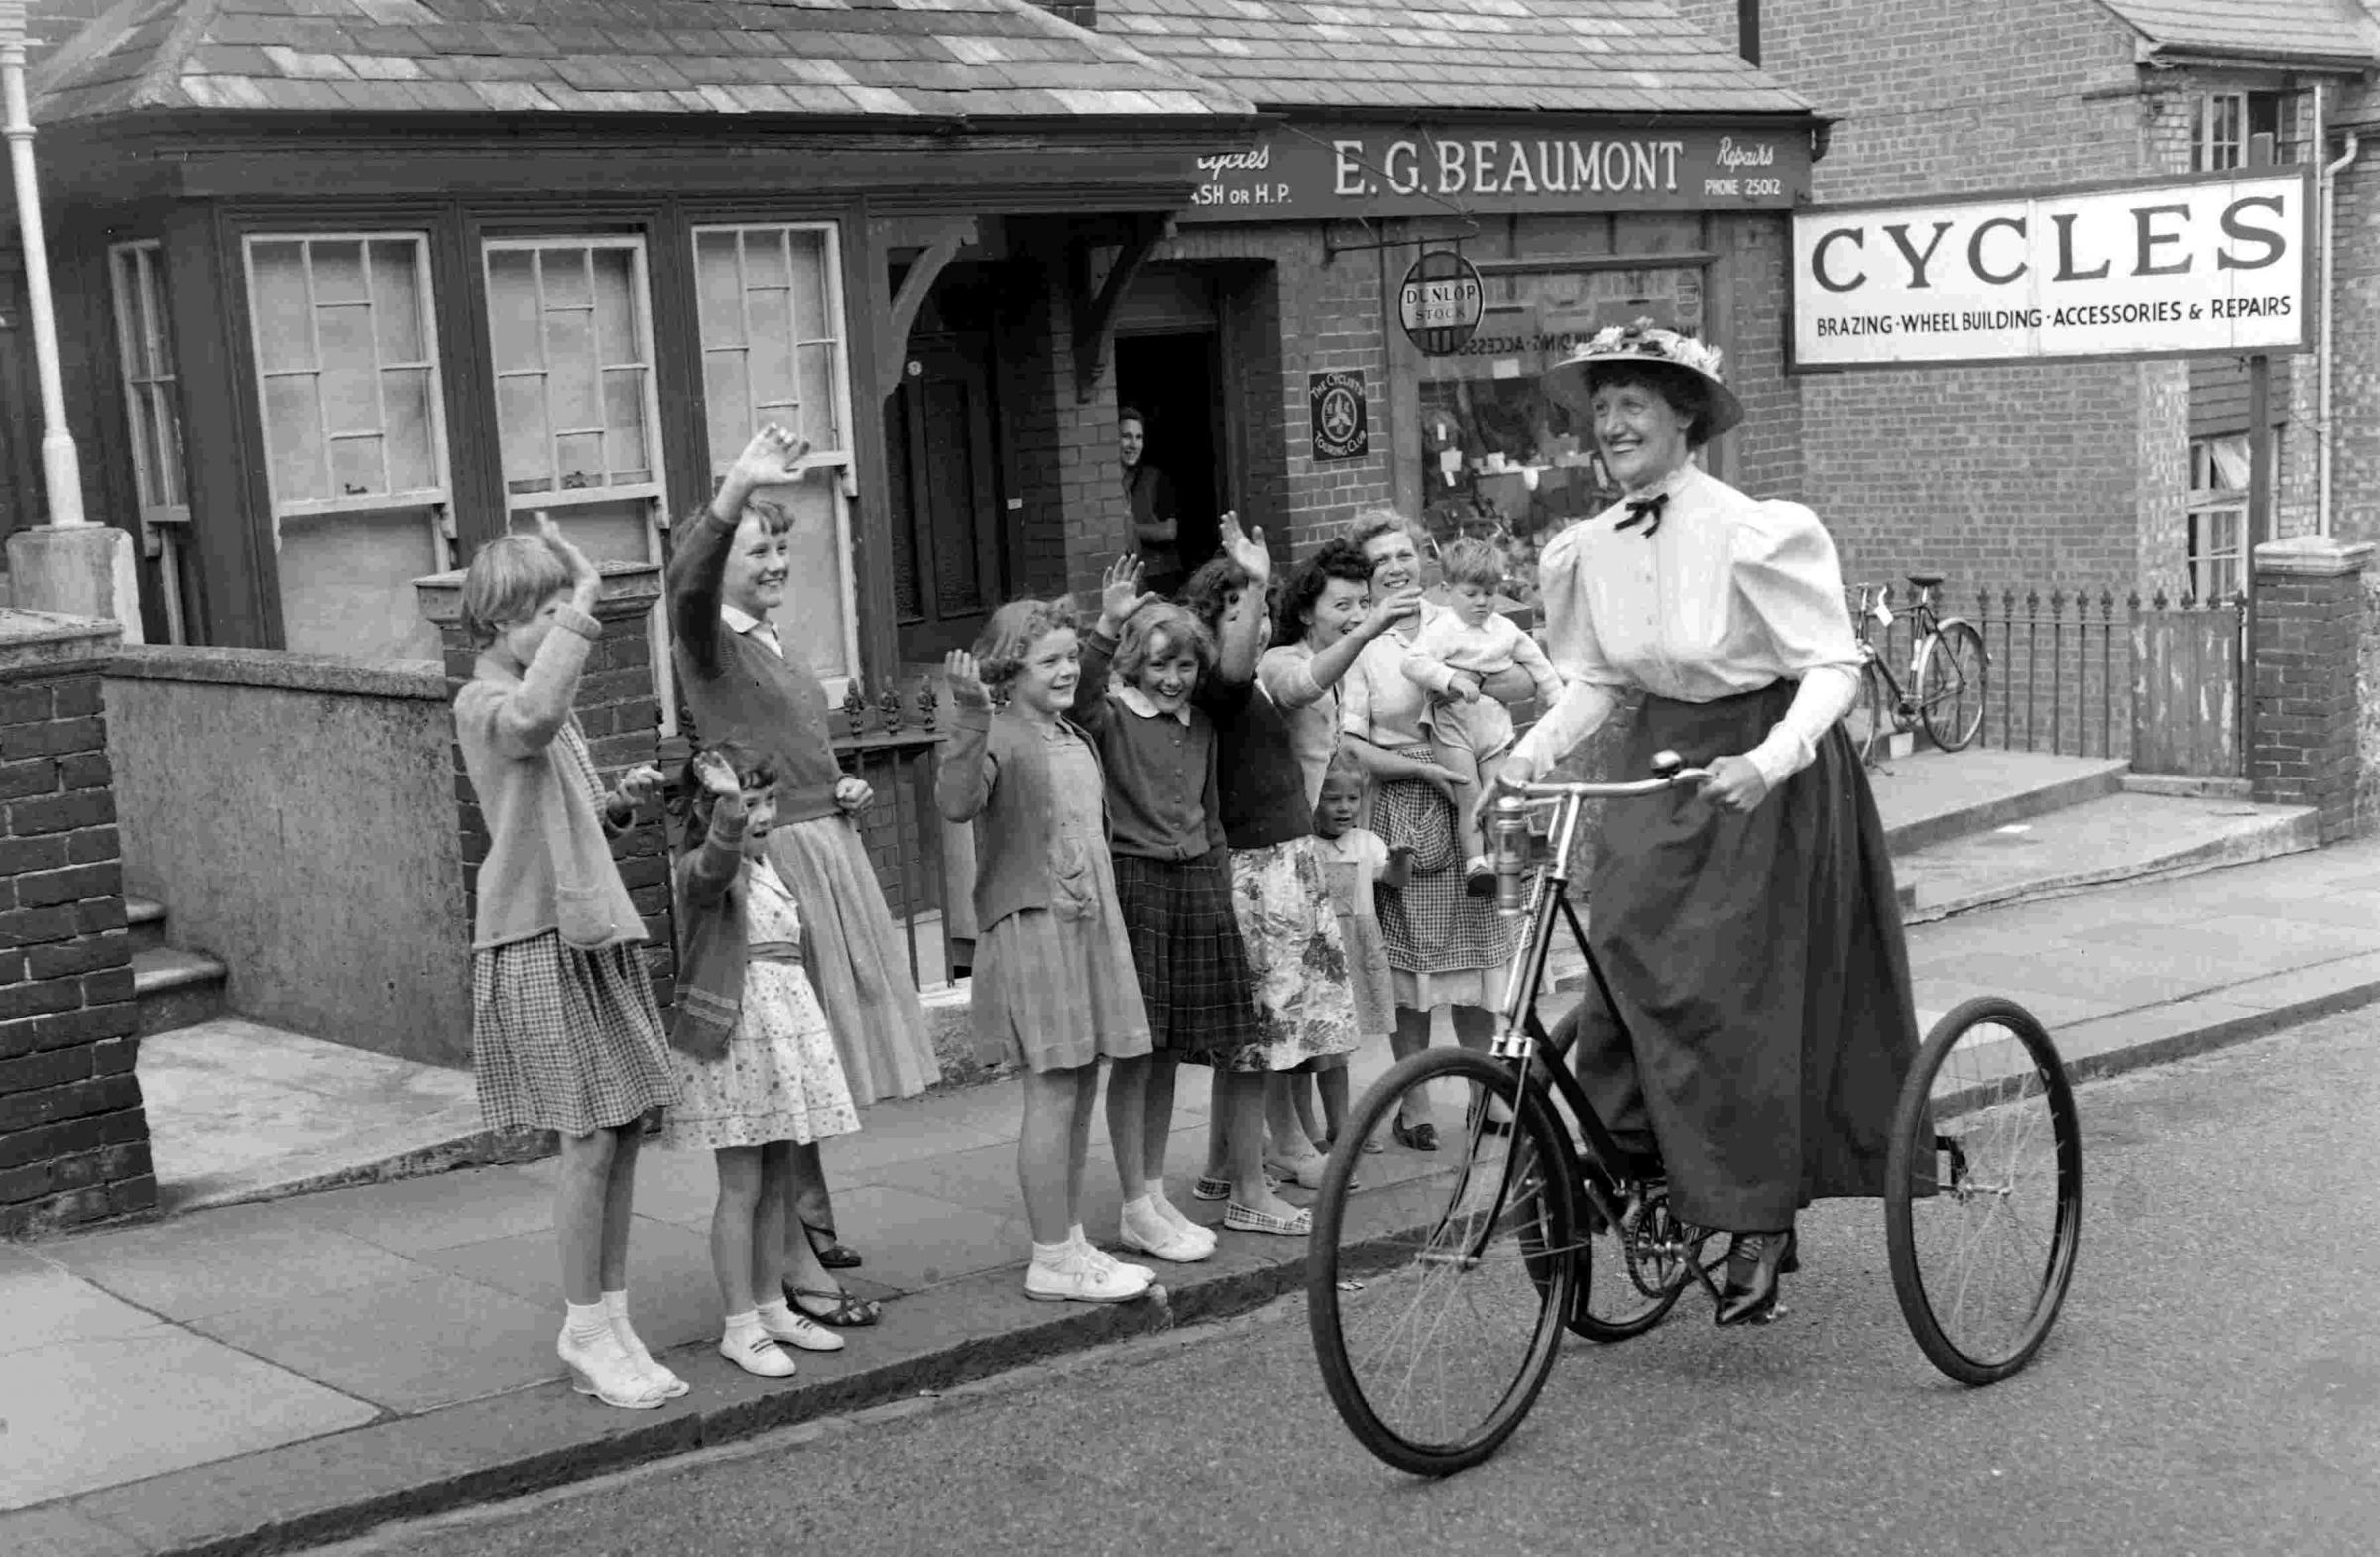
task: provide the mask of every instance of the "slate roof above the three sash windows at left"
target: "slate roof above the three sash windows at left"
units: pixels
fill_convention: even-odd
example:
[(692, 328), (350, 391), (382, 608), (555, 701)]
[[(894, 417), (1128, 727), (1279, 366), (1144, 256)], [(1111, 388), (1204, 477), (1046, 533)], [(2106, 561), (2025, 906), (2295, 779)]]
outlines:
[(33, 88), (45, 124), (140, 110), (1252, 112), (1028, 0), (119, 0), (40, 62)]

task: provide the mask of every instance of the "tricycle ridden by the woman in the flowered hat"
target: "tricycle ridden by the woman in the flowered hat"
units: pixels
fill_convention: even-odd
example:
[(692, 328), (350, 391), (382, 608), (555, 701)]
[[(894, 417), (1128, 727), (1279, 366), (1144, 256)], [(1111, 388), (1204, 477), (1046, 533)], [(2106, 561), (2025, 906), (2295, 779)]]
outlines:
[[(1626, 1162), (1537, 1019), (1554, 926), (1611, 990), (1566, 898), (1587, 800), (1626, 802), (1706, 774), (1673, 752), (1640, 783), (1530, 783), (1497, 802), (1497, 900), (1526, 917), (1495, 1045), (1423, 1050), (1340, 1131), (1307, 1245), (1323, 1386), (1388, 1464), (1447, 1476), (1488, 1459), (1535, 1405), (1561, 1331), (1628, 1340), (1690, 1286), (1718, 1300), (1726, 1238), (1687, 1226)], [(1354, 1195), (1364, 1140), (1466, 1100), (1445, 1167)], [(1411, 1105), (1411, 1114), (1402, 1112)], [(1968, 1000), (1918, 1050), (1892, 1117), (1885, 1245), (1918, 1350), (1961, 1383), (2025, 1367), (2066, 1300), (2082, 1231), (2082, 1131), (2049, 1033), (2013, 1000)], [(1718, 1243), (1711, 1250), (1711, 1243)]]

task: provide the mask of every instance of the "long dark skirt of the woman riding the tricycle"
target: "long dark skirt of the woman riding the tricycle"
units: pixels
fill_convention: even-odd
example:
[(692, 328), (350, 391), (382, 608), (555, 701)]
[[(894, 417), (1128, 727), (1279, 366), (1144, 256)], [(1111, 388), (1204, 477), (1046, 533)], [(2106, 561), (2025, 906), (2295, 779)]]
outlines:
[[(1792, 693), (1645, 698), (1621, 771), (1749, 752)], [(1678, 1217), (1771, 1231), (1885, 1193), (1918, 1026), (1885, 826), (1842, 726), (1749, 814), (1687, 790), (1606, 805), (1587, 938), (1626, 1031), (1590, 990), (1578, 1078), (1623, 1148), (1659, 1148)]]

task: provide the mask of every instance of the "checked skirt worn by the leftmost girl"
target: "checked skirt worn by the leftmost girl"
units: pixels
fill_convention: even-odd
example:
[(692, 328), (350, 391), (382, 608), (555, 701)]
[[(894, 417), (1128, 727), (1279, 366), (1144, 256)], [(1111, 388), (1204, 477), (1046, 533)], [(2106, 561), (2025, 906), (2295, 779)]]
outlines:
[(545, 931), (471, 952), (471, 1074), (490, 1131), (590, 1136), (676, 1102), (638, 948)]

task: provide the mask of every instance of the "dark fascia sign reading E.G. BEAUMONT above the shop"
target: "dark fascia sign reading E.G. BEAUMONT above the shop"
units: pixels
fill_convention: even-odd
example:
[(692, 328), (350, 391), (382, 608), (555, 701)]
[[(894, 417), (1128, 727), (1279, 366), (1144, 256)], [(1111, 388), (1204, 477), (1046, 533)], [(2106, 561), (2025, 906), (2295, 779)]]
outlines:
[(1790, 210), (1809, 195), (1809, 131), (1299, 126), (1216, 148), (1192, 179), (1180, 221)]

